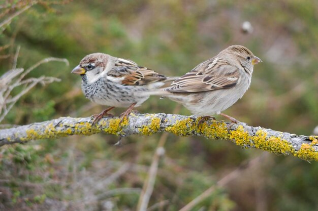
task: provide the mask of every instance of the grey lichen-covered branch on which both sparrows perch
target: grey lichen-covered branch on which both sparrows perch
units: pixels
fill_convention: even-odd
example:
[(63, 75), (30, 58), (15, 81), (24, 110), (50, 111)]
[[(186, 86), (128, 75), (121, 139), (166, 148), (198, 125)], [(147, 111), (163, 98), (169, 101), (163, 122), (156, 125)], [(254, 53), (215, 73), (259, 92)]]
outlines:
[(231, 140), (245, 148), (259, 148), (276, 154), (318, 161), (318, 136), (298, 136), (260, 126), (252, 127), (245, 123), (234, 124), (228, 130), (227, 122), (207, 120), (198, 125), (199, 120), (200, 117), (197, 116), (132, 113), (129, 119), (125, 119), (120, 125), (120, 119), (117, 117), (103, 118), (98, 124), (92, 125), (90, 117), (60, 117), (0, 130), (0, 146), (36, 139), (57, 139), (75, 134), (106, 133), (126, 137), (133, 134), (151, 135), (166, 131), (177, 136), (204, 136), (208, 139)]

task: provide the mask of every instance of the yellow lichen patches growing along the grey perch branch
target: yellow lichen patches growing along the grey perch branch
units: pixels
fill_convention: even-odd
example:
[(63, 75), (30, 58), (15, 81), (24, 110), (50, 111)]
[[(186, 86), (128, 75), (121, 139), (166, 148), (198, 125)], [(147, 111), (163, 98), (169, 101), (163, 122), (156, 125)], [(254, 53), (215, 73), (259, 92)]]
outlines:
[[(151, 123), (144, 125), (139, 131), (142, 135), (151, 135), (160, 130), (161, 118), (151, 116)], [(120, 135), (122, 128), (129, 124), (127, 118), (125, 118), (120, 124), (120, 118), (110, 118), (107, 120), (101, 119), (97, 126), (92, 125), (90, 122), (79, 122), (72, 126), (59, 125), (59, 128), (54, 128), (52, 123), (48, 124), (44, 129), (44, 133), (37, 132), (35, 128), (26, 130), (26, 136), (21, 138), (21, 141), (28, 141), (33, 139), (48, 139), (57, 138), (61, 136), (68, 136), (72, 134), (91, 135), (101, 131), (107, 134)], [(167, 119), (166, 119), (167, 120)], [(176, 122), (170, 126), (167, 126), (165, 131), (176, 134), (178, 136), (190, 136), (190, 135), (202, 135), (210, 139), (233, 139), (235, 143), (242, 147), (255, 147), (265, 151), (278, 153), (278, 154), (292, 154), (304, 160), (317, 160), (318, 152), (314, 147), (318, 144), (318, 136), (310, 136), (310, 144), (302, 144), (301, 148), (296, 151), (291, 143), (284, 140), (281, 137), (269, 137), (266, 131), (258, 130), (256, 134), (249, 135), (244, 130), (242, 125), (239, 125), (236, 130), (228, 133), (227, 124), (225, 122), (205, 121), (198, 126), (199, 120), (193, 118), (186, 118), (183, 120), (176, 120)], [(66, 126), (66, 129), (63, 129)], [(18, 137), (15, 134), (15, 137)]]

